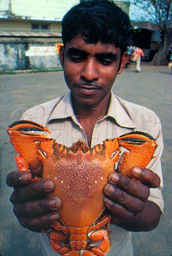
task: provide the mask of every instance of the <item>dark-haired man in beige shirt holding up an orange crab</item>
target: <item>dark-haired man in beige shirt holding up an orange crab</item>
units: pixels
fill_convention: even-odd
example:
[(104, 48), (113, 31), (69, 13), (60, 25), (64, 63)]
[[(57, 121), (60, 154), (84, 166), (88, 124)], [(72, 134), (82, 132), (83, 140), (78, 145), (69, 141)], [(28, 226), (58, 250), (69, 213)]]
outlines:
[[(112, 215), (110, 256), (133, 255), (129, 231), (149, 231), (157, 227), (163, 209), (159, 118), (151, 110), (111, 92), (116, 76), (127, 62), (130, 33), (128, 16), (112, 1), (85, 1), (74, 6), (63, 18), (64, 46), (60, 48), (60, 61), (70, 93), (23, 114), (23, 119), (45, 125), (52, 137), (66, 146), (82, 139), (93, 147), (107, 138), (135, 130), (148, 132), (157, 139), (156, 158), (148, 168), (132, 169), (141, 182), (112, 173), (104, 187), (104, 204)], [(32, 173), (41, 176), (41, 168)], [(31, 178), (31, 173), (12, 172), (7, 184), (14, 187), (11, 202), (21, 225), (40, 232), (59, 219), (61, 199), (45, 198), (54, 189), (53, 181), (31, 183)], [(56, 255), (46, 235), (43, 247), (44, 255)]]

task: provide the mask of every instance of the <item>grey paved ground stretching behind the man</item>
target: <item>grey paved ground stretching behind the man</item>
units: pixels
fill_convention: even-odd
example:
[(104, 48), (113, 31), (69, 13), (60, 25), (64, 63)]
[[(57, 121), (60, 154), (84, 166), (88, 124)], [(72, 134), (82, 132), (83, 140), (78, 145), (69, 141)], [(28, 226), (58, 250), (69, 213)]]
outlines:
[[(172, 76), (167, 67), (142, 65), (124, 70), (116, 79), (113, 91), (126, 100), (144, 105), (157, 113), (162, 122), (165, 150), (162, 168), (165, 188), (165, 211), (161, 222), (149, 233), (133, 233), (134, 256), (171, 256), (171, 109)], [(9, 202), (12, 189), (5, 185), (6, 174), (15, 170), (14, 150), (7, 142), (9, 123), (20, 118), (23, 110), (58, 97), (68, 91), (62, 71), (54, 73), (4, 75), (1, 79), (1, 249), (2, 256), (41, 256), (39, 234), (20, 226)], [(117, 237), (118, 239), (118, 237)], [(124, 255), (127, 256), (127, 255)]]

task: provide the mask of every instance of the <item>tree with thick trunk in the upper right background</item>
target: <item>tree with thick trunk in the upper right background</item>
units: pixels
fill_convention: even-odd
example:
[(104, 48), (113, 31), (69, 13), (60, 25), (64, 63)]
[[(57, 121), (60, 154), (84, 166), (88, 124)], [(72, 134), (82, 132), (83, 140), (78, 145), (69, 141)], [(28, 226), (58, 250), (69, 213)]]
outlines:
[(172, 0), (133, 0), (128, 2), (141, 7), (149, 15), (150, 20), (159, 27), (161, 44), (151, 64), (167, 65), (168, 50), (172, 42)]

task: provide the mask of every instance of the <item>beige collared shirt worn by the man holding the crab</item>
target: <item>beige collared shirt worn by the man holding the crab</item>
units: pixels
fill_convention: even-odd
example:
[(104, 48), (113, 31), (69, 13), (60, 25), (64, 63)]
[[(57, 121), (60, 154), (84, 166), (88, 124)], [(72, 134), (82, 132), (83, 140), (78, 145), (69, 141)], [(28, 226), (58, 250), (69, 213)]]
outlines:
[[(99, 109), (97, 109), (97, 115)], [(45, 102), (27, 110), (23, 119), (43, 124), (51, 131), (51, 137), (58, 143), (71, 146), (73, 142), (81, 139), (87, 142), (83, 127), (77, 121), (73, 112), (70, 92), (60, 98)], [(92, 135), (92, 147), (102, 143), (105, 139), (113, 139), (130, 131), (143, 131), (151, 134), (156, 140), (158, 147), (155, 150), (155, 158), (147, 166), (161, 178), (159, 188), (150, 189), (149, 200), (158, 204), (163, 211), (163, 199), (161, 188), (163, 187), (160, 157), (163, 149), (161, 123), (154, 112), (148, 108), (122, 100), (111, 93), (111, 101), (108, 114), (102, 117), (94, 126)], [(132, 242), (130, 233), (116, 225), (110, 225), (111, 249), (108, 256), (131, 256)], [(57, 255), (48, 245), (47, 237), (43, 236), (44, 255)]]

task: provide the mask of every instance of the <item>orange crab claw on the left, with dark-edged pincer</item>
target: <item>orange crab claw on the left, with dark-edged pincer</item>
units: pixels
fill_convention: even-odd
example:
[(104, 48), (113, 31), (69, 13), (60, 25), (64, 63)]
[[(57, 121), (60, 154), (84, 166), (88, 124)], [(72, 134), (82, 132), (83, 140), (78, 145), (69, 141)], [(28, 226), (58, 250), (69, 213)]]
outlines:
[[(47, 135), (41, 134), (41, 132), (51, 133), (43, 125), (26, 120), (14, 122), (9, 125), (9, 129), (7, 129), (7, 133), (11, 139), (10, 142), (20, 154), (20, 161), (23, 158), (24, 162), (28, 163), (30, 169), (36, 169), (40, 164), (37, 154), (37, 145), (43, 140), (53, 140), (47, 137)], [(19, 161), (17, 161), (19, 168), (21, 164), (18, 163)]]

